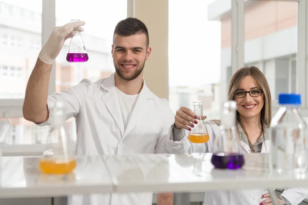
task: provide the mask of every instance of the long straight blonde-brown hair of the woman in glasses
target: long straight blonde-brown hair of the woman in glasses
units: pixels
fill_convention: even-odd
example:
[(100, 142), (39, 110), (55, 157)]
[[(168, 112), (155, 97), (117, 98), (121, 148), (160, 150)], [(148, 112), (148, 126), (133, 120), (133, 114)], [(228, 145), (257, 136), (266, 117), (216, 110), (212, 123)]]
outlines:
[[(269, 86), (264, 74), (254, 66), (243, 67), (237, 70), (231, 77), (228, 86), (228, 100), (234, 100), (234, 93), (238, 89), (238, 85), (245, 76), (252, 76), (256, 79), (257, 83), (263, 91), (263, 101), (264, 106), (261, 110), (261, 124), (263, 123), (269, 127), (272, 120), (272, 97), (271, 91), (269, 91)], [(239, 112), (237, 112), (237, 119), (239, 121)], [(264, 128), (263, 128), (264, 129)]]

